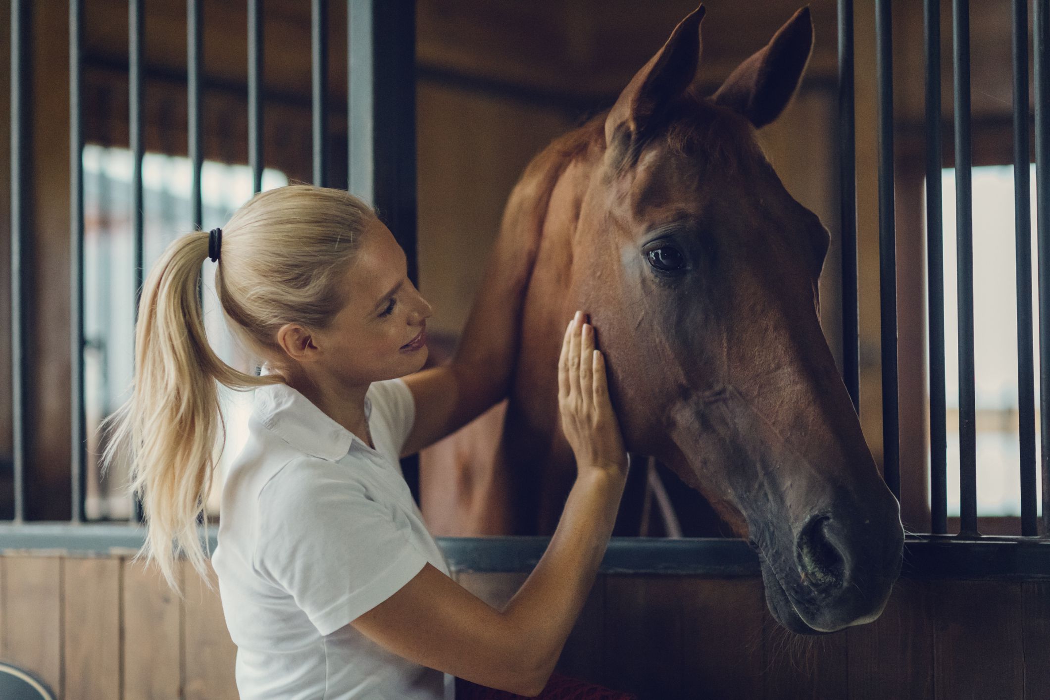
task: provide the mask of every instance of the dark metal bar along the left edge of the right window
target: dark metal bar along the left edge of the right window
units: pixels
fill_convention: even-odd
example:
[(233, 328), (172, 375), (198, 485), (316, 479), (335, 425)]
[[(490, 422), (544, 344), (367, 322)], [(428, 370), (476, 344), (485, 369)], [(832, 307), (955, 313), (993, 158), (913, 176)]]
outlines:
[(941, 0), (925, 0), (923, 22), (926, 29), (926, 276), (929, 280), (929, 531), (945, 534), (948, 532), (948, 436), (941, 204)]

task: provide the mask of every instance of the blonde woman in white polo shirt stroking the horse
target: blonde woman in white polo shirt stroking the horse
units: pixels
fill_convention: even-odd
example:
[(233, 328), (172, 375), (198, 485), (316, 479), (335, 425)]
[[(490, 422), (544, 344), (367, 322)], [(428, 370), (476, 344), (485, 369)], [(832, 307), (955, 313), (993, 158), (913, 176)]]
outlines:
[[(511, 250), (522, 245), (497, 243), (494, 260), (517, 256), (522, 273), (489, 266), (455, 359), (424, 372), (430, 305), (391, 232), (344, 191), (257, 194), (224, 229), (173, 241), (150, 272), (134, 390), (112, 419), (105, 458), (130, 452), (144, 552), (175, 588), (180, 550), (206, 571), (197, 523), (216, 460), (218, 384), (255, 390), (212, 557), (243, 698), (536, 696), (545, 686), (559, 697), (554, 685), (570, 684), (551, 674), (627, 471), (593, 330), (578, 312), (559, 361), (575, 486), (547, 552), (505, 610), (448, 576), (398, 462), (506, 396), (534, 259), (528, 247)], [(206, 258), (217, 263), (229, 327), (262, 360), (259, 376), (226, 365), (208, 345), (197, 296)]]

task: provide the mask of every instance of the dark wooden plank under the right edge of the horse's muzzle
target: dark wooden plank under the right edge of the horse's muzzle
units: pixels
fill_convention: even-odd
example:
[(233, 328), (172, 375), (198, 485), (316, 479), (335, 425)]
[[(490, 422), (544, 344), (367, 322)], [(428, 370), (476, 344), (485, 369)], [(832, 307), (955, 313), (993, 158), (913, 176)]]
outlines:
[(933, 697), (930, 582), (899, 579), (879, 619), (848, 628), (849, 700)]

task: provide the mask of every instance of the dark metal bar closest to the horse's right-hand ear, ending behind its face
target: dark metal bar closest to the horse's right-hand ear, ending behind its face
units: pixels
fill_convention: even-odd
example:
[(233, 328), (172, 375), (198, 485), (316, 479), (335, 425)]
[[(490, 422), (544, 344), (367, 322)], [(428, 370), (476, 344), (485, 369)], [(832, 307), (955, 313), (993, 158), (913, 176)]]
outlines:
[(842, 381), (860, 415), (860, 306), (857, 290), (857, 139), (854, 115), (853, 0), (838, 0), (839, 230), (842, 235)]

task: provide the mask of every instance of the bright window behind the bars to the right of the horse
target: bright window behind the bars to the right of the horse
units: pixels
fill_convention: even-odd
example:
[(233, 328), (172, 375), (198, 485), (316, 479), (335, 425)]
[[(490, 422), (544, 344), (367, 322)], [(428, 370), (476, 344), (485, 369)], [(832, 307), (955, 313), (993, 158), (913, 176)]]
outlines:
[[(948, 515), (959, 501), (959, 316), (956, 274), (956, 171), (942, 171), (944, 336), (948, 438)], [(1035, 464), (1040, 464), (1038, 290), (1035, 166), (1031, 166), (1032, 316), (1035, 368)], [(1021, 514), (1017, 415), (1017, 292), (1013, 167), (973, 168), (973, 346), (978, 515)], [(929, 337), (926, 337), (929, 348)], [(927, 352), (927, 358), (929, 354)], [(927, 359), (928, 376), (928, 359)], [(926, 455), (929, 474), (929, 454)], [(1036, 468), (1036, 473), (1038, 474)], [(1040, 476), (1037, 475), (1038, 480)], [(1036, 482), (1037, 512), (1042, 491)]]

